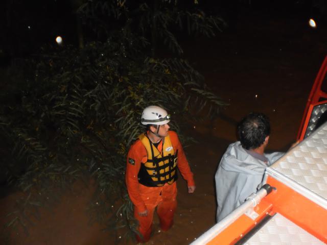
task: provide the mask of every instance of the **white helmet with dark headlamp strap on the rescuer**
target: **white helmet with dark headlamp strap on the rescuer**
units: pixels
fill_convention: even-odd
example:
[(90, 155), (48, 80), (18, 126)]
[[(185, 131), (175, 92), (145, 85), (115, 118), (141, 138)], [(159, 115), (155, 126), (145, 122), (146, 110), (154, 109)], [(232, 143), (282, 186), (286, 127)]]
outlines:
[(158, 106), (148, 106), (142, 112), (141, 123), (143, 125), (164, 125), (170, 122), (170, 115), (165, 109)]

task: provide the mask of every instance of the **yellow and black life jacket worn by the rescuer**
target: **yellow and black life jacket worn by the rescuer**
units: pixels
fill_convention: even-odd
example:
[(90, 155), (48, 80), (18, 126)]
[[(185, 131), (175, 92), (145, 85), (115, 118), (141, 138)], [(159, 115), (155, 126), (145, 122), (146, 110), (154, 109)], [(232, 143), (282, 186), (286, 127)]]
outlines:
[(162, 139), (162, 150), (153, 145), (147, 134), (138, 136), (147, 150), (148, 160), (141, 163), (138, 171), (138, 182), (149, 187), (159, 187), (166, 183), (172, 184), (177, 180), (177, 153), (174, 149), (169, 135)]

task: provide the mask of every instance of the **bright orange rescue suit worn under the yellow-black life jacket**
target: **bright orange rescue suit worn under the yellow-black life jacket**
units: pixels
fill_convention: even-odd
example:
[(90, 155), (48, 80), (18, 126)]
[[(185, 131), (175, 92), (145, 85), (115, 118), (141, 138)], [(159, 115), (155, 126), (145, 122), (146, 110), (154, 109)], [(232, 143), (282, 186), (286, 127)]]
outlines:
[[(147, 241), (150, 239), (152, 219), (153, 219), (153, 213), (155, 207), (157, 207), (157, 213), (160, 220), (160, 228), (162, 230), (168, 230), (173, 224), (174, 212), (177, 206), (177, 201), (176, 201), (177, 188), (175, 182), (175, 177), (177, 176), (177, 173), (171, 175), (172, 171), (170, 170), (172, 168), (171, 169), (169, 168), (171, 166), (174, 166), (175, 161), (173, 163), (169, 159), (166, 159), (166, 162), (161, 161), (161, 164), (167, 165), (168, 167), (168, 168), (161, 167), (161, 169), (164, 169), (164, 173), (160, 173), (159, 176), (165, 178), (165, 180), (160, 180), (160, 181), (164, 181), (165, 183), (160, 181), (159, 183), (158, 179), (155, 179), (156, 177), (155, 175), (153, 175), (153, 169), (150, 169), (149, 171), (147, 171), (147, 173), (143, 173), (143, 174), (148, 175), (148, 177), (152, 180), (152, 184), (157, 183), (156, 186), (147, 186), (139, 182), (140, 169), (142, 167), (143, 168), (145, 167), (143, 166), (144, 164), (152, 163), (151, 159), (150, 161), (148, 161), (148, 152), (146, 146), (142, 142), (142, 139), (148, 140), (148, 138), (145, 137), (146, 136), (140, 135), (139, 139), (136, 140), (134, 144), (131, 145), (131, 148), (127, 156), (127, 168), (126, 168), (127, 190), (129, 193), (129, 197), (134, 204), (134, 217), (139, 222), (138, 231), (143, 236), (143, 239), (141, 239), (141, 237), (136, 236), (138, 241)], [(173, 149), (170, 149), (171, 147), (169, 146), (170, 143)], [(149, 144), (150, 145), (152, 144), (151, 141), (149, 141)], [(155, 148), (154, 145), (151, 146)], [(191, 172), (189, 163), (186, 160), (183, 148), (175, 132), (169, 131), (168, 136), (166, 136), (158, 144), (157, 151), (158, 152), (156, 153), (163, 152), (161, 156), (162, 155), (167, 156), (167, 154), (165, 154), (165, 151), (166, 153), (170, 152), (171, 156), (174, 156), (174, 154), (177, 155), (177, 159), (178, 159), (177, 167), (180, 170), (182, 177), (188, 182), (188, 186), (195, 186), (193, 173)], [(152, 154), (152, 156), (153, 155), (154, 154)], [(173, 157), (173, 159), (175, 159), (175, 157)], [(147, 170), (148, 167), (144, 169)], [(176, 170), (177, 169), (175, 169), (175, 171)], [(167, 175), (168, 177), (166, 177)], [(171, 178), (171, 176), (175, 176), (175, 177)], [(138, 213), (144, 212), (146, 210), (148, 210), (147, 216), (138, 215)]]

